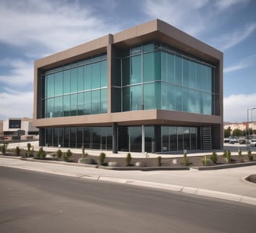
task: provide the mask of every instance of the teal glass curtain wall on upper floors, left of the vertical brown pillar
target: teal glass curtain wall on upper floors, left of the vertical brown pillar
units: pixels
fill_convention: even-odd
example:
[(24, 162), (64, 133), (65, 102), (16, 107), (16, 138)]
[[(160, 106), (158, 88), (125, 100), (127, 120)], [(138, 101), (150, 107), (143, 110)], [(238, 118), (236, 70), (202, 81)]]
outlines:
[(44, 118), (108, 111), (106, 55), (87, 58), (44, 73)]

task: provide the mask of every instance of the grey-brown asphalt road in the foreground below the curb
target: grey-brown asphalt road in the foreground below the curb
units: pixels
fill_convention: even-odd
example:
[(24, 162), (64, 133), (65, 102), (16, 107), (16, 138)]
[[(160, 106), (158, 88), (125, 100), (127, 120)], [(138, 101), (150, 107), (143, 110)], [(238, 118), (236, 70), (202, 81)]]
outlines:
[(0, 232), (255, 232), (242, 203), (0, 167)]

